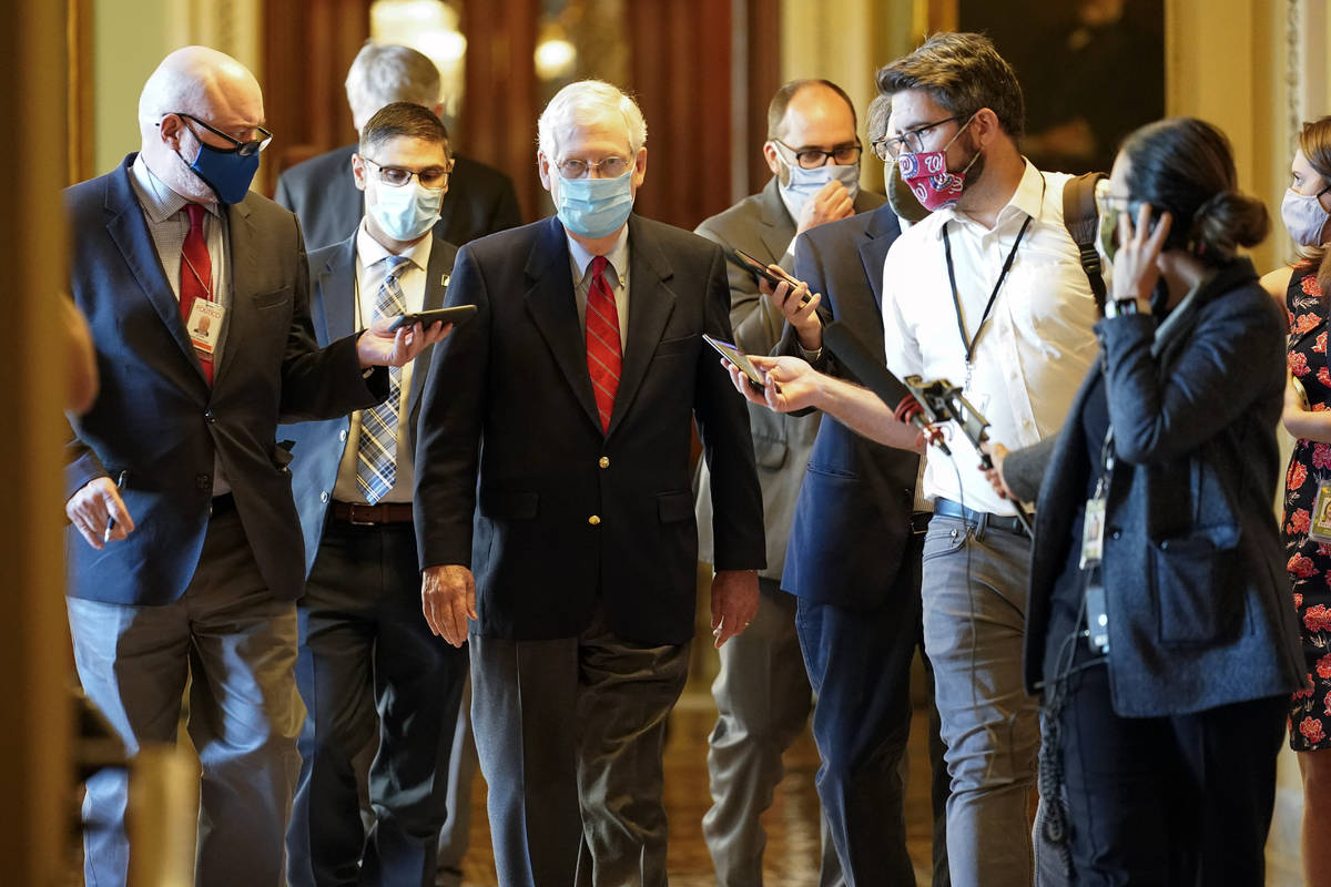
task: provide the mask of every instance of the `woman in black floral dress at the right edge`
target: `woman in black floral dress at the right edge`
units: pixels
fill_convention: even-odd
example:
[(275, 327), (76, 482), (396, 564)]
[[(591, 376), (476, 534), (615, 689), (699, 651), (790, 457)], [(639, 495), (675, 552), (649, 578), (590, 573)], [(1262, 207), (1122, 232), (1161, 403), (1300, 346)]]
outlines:
[(1331, 117), (1303, 124), (1280, 218), (1300, 259), (1262, 278), (1288, 313), (1284, 427), (1294, 453), (1284, 473), (1284, 555), (1312, 689), (1290, 698), (1290, 747), (1303, 773), (1303, 871), (1308, 887), (1331, 884), (1322, 862), (1331, 840)]

